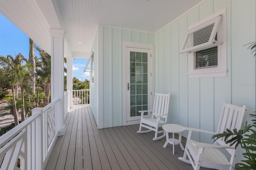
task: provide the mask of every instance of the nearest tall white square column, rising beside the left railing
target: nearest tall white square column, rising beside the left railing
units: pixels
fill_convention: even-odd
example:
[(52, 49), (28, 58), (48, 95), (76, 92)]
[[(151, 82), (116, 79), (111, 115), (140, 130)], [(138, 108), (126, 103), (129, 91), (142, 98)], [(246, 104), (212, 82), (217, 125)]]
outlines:
[(51, 35), (51, 99), (57, 104), (58, 135), (64, 134), (64, 30), (50, 28)]

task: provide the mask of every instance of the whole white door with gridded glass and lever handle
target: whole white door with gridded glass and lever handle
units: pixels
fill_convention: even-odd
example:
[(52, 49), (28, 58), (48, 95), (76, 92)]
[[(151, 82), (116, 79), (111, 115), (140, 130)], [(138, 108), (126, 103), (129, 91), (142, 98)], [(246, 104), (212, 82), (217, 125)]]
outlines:
[[(152, 105), (151, 50), (126, 47), (126, 123), (140, 120), (142, 110)], [(150, 113), (144, 113), (145, 116)], [(130, 123), (129, 123), (130, 122)], [(133, 122), (133, 123), (132, 123)]]

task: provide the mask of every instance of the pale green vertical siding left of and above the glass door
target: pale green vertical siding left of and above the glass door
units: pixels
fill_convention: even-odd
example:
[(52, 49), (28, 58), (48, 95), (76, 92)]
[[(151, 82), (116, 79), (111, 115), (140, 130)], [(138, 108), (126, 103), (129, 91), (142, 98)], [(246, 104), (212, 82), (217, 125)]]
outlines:
[(103, 127), (122, 126), (122, 42), (154, 44), (154, 34), (103, 26)]

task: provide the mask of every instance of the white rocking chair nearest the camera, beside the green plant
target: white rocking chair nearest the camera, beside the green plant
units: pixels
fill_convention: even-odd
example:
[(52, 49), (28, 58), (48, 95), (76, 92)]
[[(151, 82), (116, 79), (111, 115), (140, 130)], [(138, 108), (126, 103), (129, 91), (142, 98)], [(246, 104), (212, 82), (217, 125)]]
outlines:
[[(196, 128), (184, 127), (188, 131), (188, 139), (184, 151), (184, 156), (179, 159), (192, 164), (194, 170), (199, 170), (200, 166), (205, 168), (213, 168), (218, 170), (234, 170), (236, 164), (237, 149), (234, 146), (229, 146), (224, 142), (224, 138), (217, 139), (214, 144), (207, 144), (191, 140), (192, 131), (206, 132), (210, 134), (218, 134), (224, 132), (227, 128), (239, 130), (242, 123), (245, 122), (247, 115), (246, 106), (238, 107), (236, 105), (228, 104), (224, 101), (220, 121), (217, 132), (209, 132)], [(226, 149), (231, 155), (230, 159), (220, 151)], [(188, 156), (188, 159), (186, 158)]]

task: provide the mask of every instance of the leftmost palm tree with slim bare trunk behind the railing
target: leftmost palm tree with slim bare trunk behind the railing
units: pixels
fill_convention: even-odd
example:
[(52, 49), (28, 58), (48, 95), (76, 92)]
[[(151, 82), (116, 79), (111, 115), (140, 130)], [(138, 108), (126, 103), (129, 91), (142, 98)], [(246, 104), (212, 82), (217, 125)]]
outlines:
[(7, 57), (0, 56), (0, 66), (4, 70), (2, 72), (2, 79), (7, 80), (10, 89), (12, 90), (12, 101), (13, 101), (13, 117), (14, 117), (14, 124), (17, 126), (19, 124), (18, 121), (18, 112), (16, 108), (16, 101), (15, 101), (15, 85), (18, 84), (18, 75), (17, 75), (17, 67), (14, 66), (14, 58), (11, 55)]

